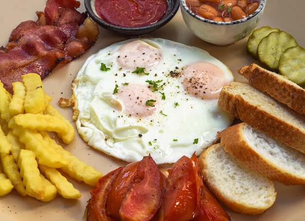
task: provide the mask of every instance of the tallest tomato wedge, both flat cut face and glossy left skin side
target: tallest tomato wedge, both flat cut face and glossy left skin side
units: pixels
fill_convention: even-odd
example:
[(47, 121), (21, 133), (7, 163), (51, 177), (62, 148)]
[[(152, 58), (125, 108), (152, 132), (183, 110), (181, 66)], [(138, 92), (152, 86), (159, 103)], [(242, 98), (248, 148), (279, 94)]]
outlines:
[(150, 221), (161, 200), (160, 171), (148, 156), (118, 173), (107, 198), (107, 211), (117, 220)]

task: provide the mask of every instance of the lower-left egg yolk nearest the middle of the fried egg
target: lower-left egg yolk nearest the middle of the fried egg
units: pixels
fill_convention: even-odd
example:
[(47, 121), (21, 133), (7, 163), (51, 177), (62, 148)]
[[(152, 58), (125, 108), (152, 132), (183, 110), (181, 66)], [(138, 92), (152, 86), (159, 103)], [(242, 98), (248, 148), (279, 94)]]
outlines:
[(148, 87), (129, 84), (120, 87), (117, 98), (124, 105), (125, 113), (133, 117), (148, 117), (155, 113), (159, 100)]

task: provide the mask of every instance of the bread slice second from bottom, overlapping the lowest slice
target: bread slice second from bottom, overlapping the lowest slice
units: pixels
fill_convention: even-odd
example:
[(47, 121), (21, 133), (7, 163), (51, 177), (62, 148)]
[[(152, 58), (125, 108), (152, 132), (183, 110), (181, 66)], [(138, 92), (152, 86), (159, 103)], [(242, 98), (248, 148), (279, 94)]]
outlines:
[(245, 122), (218, 134), (221, 144), (236, 160), (273, 181), (305, 184), (305, 154)]

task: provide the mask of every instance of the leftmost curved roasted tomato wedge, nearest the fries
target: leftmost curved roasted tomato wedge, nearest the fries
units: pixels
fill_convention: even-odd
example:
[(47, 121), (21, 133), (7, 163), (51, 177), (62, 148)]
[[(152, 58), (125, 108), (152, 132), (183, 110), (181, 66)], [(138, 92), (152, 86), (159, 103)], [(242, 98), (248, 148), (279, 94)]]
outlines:
[(97, 182), (96, 188), (90, 191), (91, 199), (88, 201), (86, 207), (87, 221), (115, 221), (107, 214), (106, 201), (114, 179), (122, 169), (123, 167), (119, 167), (101, 177)]

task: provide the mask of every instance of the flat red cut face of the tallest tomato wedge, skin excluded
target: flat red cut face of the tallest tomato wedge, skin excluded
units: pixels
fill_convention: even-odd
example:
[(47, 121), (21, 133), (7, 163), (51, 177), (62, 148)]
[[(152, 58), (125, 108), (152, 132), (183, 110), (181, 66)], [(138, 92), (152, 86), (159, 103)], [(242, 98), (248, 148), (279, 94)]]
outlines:
[(150, 221), (162, 200), (160, 171), (151, 156), (139, 162), (120, 207), (122, 221)]

